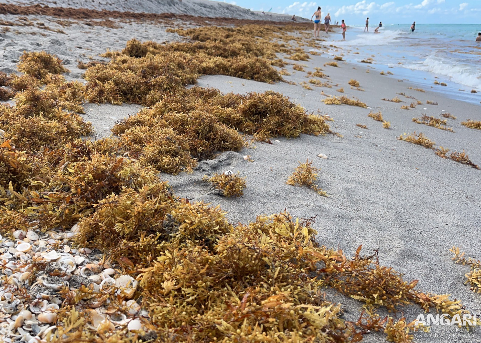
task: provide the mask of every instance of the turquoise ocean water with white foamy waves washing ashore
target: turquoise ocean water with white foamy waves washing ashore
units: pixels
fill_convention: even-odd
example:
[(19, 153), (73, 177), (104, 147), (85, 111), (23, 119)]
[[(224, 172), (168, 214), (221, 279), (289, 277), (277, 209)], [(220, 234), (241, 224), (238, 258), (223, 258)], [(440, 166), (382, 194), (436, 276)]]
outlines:
[[(481, 43), (475, 39), (481, 24), (416, 24), (415, 32), (409, 28), (410, 24), (387, 24), (374, 34), (375, 26), (369, 27), (369, 33), (363, 32), (364, 26), (350, 26), (346, 41), (340, 41), (338, 30), (324, 44), (339, 47), (336, 53), (342, 51), (347, 61), (372, 58), (373, 64), (366, 66), (391, 71), (392, 77), (450, 98), (480, 104)], [(434, 81), (448, 86), (434, 85)], [(471, 93), (473, 89), (479, 93)]]

